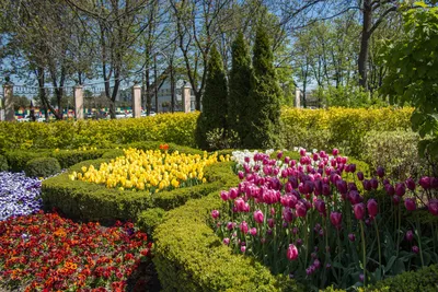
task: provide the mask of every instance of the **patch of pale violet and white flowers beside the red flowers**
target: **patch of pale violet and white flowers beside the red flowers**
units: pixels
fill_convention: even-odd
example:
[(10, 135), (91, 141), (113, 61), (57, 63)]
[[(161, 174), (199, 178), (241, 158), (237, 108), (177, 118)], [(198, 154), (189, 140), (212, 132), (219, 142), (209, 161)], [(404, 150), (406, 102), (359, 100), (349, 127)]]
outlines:
[(42, 209), (41, 184), (39, 179), (26, 177), (24, 173), (0, 172), (0, 221)]

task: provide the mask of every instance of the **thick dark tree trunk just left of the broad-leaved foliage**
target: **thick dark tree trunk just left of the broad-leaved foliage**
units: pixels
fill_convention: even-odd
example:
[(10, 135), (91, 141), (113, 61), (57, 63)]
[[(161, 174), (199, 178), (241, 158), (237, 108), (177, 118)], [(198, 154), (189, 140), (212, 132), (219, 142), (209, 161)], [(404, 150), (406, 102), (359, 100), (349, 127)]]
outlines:
[(364, 0), (362, 16), (364, 16), (362, 35), (360, 39), (358, 69), (359, 69), (359, 85), (362, 86), (364, 89), (367, 89), (368, 47), (370, 39), (370, 30), (372, 25), (371, 0)]

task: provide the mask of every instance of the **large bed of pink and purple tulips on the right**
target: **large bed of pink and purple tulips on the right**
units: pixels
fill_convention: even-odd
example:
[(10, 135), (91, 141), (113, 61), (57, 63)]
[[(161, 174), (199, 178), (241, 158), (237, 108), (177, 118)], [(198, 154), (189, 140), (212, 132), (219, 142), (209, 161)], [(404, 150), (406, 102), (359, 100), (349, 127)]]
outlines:
[[(333, 156), (303, 149), (300, 154), (299, 162), (281, 153), (244, 159), (239, 187), (222, 191), (224, 206), (211, 212), (224, 245), (312, 290), (367, 285), (438, 262), (437, 220), (422, 226), (414, 212), (424, 207), (438, 217), (438, 178), (423, 177), (419, 188), (412, 178), (392, 185), (383, 168), (379, 179), (356, 174), (336, 149)], [(389, 196), (378, 196), (379, 185)], [(402, 220), (402, 208), (412, 218)]]

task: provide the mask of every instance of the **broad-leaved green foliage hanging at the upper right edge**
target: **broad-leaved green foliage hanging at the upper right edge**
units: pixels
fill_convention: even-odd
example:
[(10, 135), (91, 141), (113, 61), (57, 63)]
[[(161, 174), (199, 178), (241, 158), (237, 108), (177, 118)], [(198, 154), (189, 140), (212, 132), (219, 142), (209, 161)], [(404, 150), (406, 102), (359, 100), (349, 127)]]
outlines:
[(422, 138), (433, 136), (422, 142), (420, 151), (438, 157), (438, 8), (423, 2), (403, 16), (405, 34), (387, 50), (389, 72), (380, 92), (392, 103), (415, 107), (413, 130)]

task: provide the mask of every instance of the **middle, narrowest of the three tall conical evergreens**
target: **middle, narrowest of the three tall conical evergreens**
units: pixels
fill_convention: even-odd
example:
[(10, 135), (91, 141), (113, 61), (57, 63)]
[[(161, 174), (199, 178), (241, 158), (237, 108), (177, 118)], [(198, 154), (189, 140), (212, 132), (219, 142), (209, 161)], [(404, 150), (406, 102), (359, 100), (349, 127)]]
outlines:
[(251, 57), (249, 46), (239, 33), (232, 44), (232, 67), (230, 92), (228, 94), (228, 125), (241, 139), (250, 131), (252, 115), (250, 108)]

